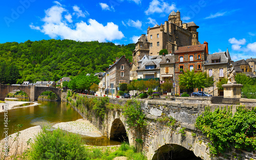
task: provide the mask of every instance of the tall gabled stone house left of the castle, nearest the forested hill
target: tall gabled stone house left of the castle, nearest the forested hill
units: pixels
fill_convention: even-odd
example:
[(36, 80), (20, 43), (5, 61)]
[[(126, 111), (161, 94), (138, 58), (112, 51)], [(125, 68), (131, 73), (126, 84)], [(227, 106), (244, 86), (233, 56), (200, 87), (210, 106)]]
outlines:
[[(116, 57), (113, 65), (110, 65), (105, 72), (105, 89), (109, 90), (109, 93), (113, 93), (116, 96), (118, 93), (119, 83), (130, 83), (130, 63), (122, 56)], [(103, 78), (102, 78), (103, 79)], [(102, 81), (103, 82), (103, 81)]]

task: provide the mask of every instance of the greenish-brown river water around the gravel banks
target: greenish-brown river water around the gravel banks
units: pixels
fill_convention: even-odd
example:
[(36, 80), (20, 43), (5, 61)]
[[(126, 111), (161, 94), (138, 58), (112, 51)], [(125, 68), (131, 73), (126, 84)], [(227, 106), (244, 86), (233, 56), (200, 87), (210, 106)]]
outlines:
[[(17, 101), (28, 101), (28, 99), (18, 99)], [(60, 122), (69, 122), (82, 119), (67, 102), (55, 101), (38, 101), (37, 106), (20, 107), (8, 110), (8, 126), (9, 134), (14, 133), (18, 124), (22, 124), (21, 130), (33, 126), (54, 125)], [(29, 103), (28, 103), (29, 105)], [(24, 106), (24, 105), (23, 105)], [(2, 139), (4, 127), (4, 112), (0, 112), (0, 139)], [(107, 146), (119, 145), (119, 142), (110, 141), (105, 136), (100, 138), (92, 138), (89, 136), (82, 136), (82, 140), (87, 145)]]

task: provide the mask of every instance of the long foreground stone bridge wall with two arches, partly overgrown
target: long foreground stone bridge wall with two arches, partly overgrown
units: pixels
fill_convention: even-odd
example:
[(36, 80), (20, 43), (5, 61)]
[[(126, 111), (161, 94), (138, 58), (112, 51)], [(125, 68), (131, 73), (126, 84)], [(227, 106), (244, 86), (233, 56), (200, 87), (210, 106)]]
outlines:
[[(88, 96), (90, 97), (90, 96)], [(110, 99), (110, 103), (124, 105), (124, 99)], [(202, 101), (201, 101), (202, 102)], [(126, 118), (120, 109), (107, 109), (104, 120), (97, 119), (92, 110), (86, 109), (81, 116), (91, 121), (110, 140), (125, 140), (144, 152), (147, 159), (233, 159), (237, 150), (232, 150), (226, 157), (213, 158), (209, 155), (207, 143), (209, 140), (195, 128), (196, 118), (209, 104), (184, 103), (167, 101), (142, 100), (141, 106), (146, 113), (147, 127), (142, 132), (129, 129)], [(211, 104), (211, 110), (218, 106)], [(74, 107), (75, 108), (75, 107)], [(233, 112), (236, 107), (233, 107)], [(75, 108), (77, 110), (77, 108)], [(79, 110), (77, 110), (79, 112)], [(164, 123), (157, 121), (163, 115), (173, 117), (178, 121), (179, 127), (172, 130)], [(183, 134), (180, 129), (185, 128)], [(136, 142), (141, 139), (142, 144)], [(236, 153), (236, 154), (234, 154)], [(255, 154), (239, 151), (243, 159), (256, 158)], [(247, 157), (247, 158), (246, 158)], [(249, 158), (248, 158), (249, 157)], [(234, 158), (235, 159), (235, 158)]]

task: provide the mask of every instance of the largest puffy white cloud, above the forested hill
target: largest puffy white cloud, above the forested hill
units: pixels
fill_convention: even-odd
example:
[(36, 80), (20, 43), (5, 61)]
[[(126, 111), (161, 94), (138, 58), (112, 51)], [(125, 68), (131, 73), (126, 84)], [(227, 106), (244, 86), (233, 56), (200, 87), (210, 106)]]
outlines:
[[(76, 12), (77, 17), (86, 15), (77, 6), (74, 6), (73, 10)], [(52, 6), (45, 11), (45, 14), (45, 17), (42, 18), (43, 25), (34, 26), (31, 23), (30, 28), (39, 30), (51, 38), (60, 37), (61, 39), (77, 41), (98, 40), (99, 42), (105, 42), (124, 37), (123, 33), (119, 31), (118, 26), (113, 22), (108, 22), (106, 26), (103, 26), (95, 19), (88, 19), (87, 22), (79, 21), (74, 25), (69, 25), (67, 21), (70, 22), (72, 17), (68, 13), (68, 10), (60, 5)], [(65, 15), (65, 18), (62, 17), (63, 15)]]

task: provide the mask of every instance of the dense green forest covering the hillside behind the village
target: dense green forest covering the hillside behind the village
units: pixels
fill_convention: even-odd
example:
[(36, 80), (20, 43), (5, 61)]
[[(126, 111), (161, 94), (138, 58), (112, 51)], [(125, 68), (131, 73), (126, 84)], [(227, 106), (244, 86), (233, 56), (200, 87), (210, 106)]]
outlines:
[(0, 83), (57, 81), (79, 73), (105, 71), (116, 57), (125, 55), (132, 62), (135, 44), (40, 40), (0, 44)]

